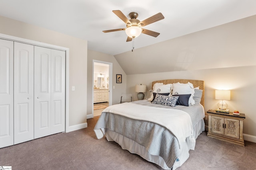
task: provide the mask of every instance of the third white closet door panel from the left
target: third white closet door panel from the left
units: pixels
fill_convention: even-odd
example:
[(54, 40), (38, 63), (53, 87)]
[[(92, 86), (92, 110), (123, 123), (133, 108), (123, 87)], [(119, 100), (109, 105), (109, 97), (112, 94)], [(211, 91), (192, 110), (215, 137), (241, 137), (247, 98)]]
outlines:
[(34, 138), (51, 135), (51, 49), (35, 47)]

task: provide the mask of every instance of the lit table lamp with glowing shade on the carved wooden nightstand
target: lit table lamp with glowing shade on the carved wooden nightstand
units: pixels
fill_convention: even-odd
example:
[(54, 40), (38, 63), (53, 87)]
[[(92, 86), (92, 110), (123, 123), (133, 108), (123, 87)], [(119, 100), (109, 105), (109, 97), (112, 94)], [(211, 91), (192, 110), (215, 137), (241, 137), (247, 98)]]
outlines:
[(218, 109), (226, 110), (228, 104), (226, 104), (224, 100), (230, 100), (230, 90), (215, 90), (215, 99), (221, 100), (221, 102), (217, 105)]

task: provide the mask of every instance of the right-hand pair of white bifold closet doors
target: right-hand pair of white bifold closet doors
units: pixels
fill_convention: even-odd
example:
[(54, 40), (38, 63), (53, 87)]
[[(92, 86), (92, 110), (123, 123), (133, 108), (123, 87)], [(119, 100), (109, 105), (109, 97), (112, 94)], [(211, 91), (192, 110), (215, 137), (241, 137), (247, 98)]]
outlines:
[(34, 48), (36, 139), (65, 131), (65, 51)]

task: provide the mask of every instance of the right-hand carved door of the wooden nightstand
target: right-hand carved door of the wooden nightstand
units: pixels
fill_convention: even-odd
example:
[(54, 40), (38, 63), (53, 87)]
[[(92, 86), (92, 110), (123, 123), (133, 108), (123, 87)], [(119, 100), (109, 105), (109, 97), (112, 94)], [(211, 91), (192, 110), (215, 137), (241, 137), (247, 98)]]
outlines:
[(226, 118), (225, 125), (225, 135), (239, 139), (239, 120)]

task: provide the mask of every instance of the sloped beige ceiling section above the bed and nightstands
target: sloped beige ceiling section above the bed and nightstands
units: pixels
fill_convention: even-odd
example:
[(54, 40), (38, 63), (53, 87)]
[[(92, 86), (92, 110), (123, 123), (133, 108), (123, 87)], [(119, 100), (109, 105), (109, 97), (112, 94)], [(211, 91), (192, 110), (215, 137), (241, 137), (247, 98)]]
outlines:
[(256, 15), (114, 57), (128, 75), (251, 66), (256, 65), (255, 30)]

